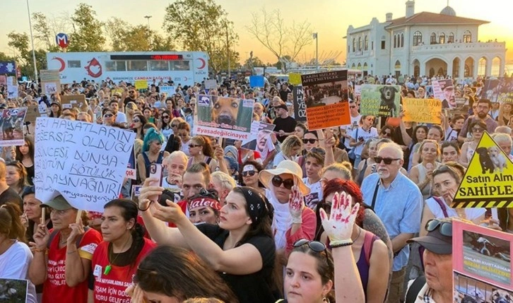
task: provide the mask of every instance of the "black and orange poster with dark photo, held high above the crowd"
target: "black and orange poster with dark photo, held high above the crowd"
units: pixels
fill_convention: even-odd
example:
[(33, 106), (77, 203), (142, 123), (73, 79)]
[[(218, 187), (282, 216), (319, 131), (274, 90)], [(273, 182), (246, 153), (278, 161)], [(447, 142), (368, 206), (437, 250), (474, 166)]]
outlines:
[(350, 124), (348, 71), (328, 71), (301, 76), (308, 129)]

